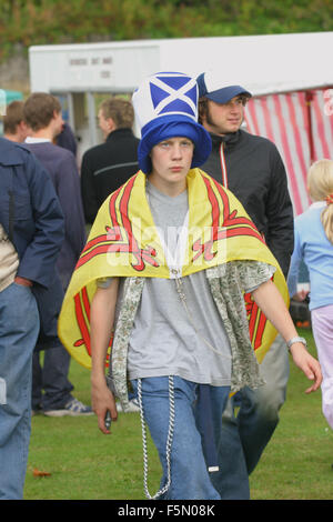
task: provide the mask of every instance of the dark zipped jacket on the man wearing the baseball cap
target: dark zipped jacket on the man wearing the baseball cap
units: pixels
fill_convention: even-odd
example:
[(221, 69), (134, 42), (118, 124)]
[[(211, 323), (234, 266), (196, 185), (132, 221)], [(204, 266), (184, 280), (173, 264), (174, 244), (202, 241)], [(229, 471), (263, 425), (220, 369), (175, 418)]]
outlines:
[(286, 277), (294, 247), (294, 218), (281, 155), (270, 140), (243, 130), (211, 134), (212, 153), (200, 168), (222, 183), (223, 143), (228, 189), (241, 201)]

